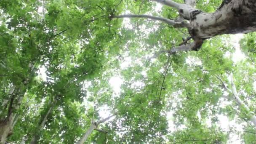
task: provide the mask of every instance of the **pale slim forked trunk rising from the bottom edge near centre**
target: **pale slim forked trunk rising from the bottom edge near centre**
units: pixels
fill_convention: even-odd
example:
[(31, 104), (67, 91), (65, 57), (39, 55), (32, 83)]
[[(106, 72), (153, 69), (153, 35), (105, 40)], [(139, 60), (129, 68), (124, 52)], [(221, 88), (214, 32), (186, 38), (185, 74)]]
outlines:
[(90, 136), (90, 134), (93, 132), (93, 130), (95, 130), (99, 124), (106, 122), (107, 120), (109, 120), (113, 116), (114, 115), (110, 115), (109, 117), (104, 118), (104, 119), (100, 120), (99, 122), (91, 123), (90, 127), (85, 132), (85, 134), (82, 136), (82, 138), (77, 142), (77, 144), (84, 144), (85, 141)]

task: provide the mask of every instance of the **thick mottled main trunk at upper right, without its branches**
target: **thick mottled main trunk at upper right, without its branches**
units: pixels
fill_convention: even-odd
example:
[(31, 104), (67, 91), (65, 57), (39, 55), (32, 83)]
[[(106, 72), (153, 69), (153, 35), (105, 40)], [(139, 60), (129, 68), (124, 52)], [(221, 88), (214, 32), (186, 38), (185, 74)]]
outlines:
[[(200, 38), (256, 31), (255, 0), (225, 0), (214, 13), (192, 16), (192, 33)], [(191, 14), (192, 15), (192, 14)]]

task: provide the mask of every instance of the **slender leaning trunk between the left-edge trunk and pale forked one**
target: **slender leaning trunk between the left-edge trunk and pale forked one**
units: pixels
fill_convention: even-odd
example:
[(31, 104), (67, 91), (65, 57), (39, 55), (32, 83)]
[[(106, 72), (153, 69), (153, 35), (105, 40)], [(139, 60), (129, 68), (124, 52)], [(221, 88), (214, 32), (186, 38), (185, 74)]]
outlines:
[(40, 122), (39, 125), (37, 126), (37, 129), (35, 130), (33, 137), (31, 139), (30, 144), (37, 144), (38, 140), (40, 139), (40, 133), (43, 130), (45, 123), (47, 122), (47, 118), (48, 116), (51, 114), (51, 112), (53, 111), (53, 107), (56, 104), (56, 100), (54, 99), (54, 101), (51, 103), (49, 103), (51, 106), (49, 107), (48, 111), (46, 112), (45, 115), (42, 115), (42, 117), (40, 118)]

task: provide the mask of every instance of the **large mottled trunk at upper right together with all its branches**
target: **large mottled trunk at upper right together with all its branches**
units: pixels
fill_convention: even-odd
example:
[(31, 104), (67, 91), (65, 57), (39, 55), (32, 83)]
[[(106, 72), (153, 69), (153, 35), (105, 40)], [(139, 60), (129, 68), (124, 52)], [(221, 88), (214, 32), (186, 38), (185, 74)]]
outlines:
[[(174, 22), (170, 20), (172, 21), (171, 23), (166, 22), (169, 21), (166, 18), (157, 17), (154, 20), (162, 21), (172, 26), (184, 21), (190, 21), (189, 23), (179, 25), (179, 27), (186, 27), (195, 43), (195, 45), (184, 43), (179, 45), (179, 47), (173, 48), (171, 51), (166, 50), (160, 53), (198, 51), (203, 44), (203, 40), (216, 35), (256, 31), (256, 0), (223, 0), (223, 3), (214, 13), (204, 13), (196, 9), (195, 0), (185, 0), (185, 3), (176, 3), (173, 0), (152, 1), (175, 8), (179, 12), (179, 17)], [(143, 15), (114, 16), (114, 18), (123, 17), (151, 18)]]

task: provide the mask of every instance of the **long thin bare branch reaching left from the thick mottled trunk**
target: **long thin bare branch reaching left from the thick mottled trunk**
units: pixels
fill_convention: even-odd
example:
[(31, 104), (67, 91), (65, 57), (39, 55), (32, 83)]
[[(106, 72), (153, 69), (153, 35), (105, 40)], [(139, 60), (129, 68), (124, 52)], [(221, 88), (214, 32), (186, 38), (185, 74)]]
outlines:
[(191, 28), (190, 24), (188, 24), (187, 22), (176, 22), (174, 20), (171, 19), (166, 19), (163, 17), (159, 17), (159, 16), (150, 16), (150, 15), (146, 15), (146, 14), (142, 14), (142, 15), (133, 15), (133, 14), (124, 14), (124, 15), (120, 15), (120, 16), (113, 16), (113, 18), (147, 18), (147, 19), (152, 19), (154, 21), (162, 21), (166, 24), (170, 24), (173, 27), (187, 27), (187, 28)]

